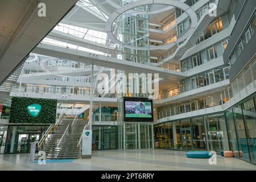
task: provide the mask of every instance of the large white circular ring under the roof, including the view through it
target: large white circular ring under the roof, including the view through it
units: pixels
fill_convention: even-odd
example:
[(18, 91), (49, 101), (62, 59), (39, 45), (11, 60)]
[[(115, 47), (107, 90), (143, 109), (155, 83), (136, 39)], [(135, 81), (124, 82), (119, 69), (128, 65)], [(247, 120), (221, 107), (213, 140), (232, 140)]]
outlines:
[[(159, 7), (170, 9), (163, 11)], [(174, 7), (183, 10), (188, 18), (176, 22)], [(155, 13), (152, 14), (151, 10)], [(148, 4), (144, 0), (128, 3), (116, 10), (108, 19), (106, 32), (114, 43), (122, 47), (139, 50), (169, 49), (187, 39), (196, 25), (196, 13), (185, 3), (159, 0)]]

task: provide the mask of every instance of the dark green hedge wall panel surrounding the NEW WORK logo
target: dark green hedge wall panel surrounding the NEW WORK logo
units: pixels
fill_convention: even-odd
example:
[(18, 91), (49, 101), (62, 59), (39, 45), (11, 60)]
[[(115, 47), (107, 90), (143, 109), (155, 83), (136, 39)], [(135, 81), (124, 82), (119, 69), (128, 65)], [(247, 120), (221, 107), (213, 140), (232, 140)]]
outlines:
[[(40, 113), (34, 117), (27, 106), (39, 104)], [(57, 100), (43, 98), (13, 97), (11, 100), (10, 123), (55, 123)]]

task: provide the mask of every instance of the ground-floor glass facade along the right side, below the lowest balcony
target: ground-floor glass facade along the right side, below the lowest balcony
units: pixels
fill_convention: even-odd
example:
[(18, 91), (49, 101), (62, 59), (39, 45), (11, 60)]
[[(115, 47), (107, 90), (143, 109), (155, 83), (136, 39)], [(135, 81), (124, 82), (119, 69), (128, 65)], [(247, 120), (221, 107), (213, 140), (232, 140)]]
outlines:
[(208, 150), (256, 163), (256, 94), (223, 113), (170, 121), (154, 126), (155, 148)]

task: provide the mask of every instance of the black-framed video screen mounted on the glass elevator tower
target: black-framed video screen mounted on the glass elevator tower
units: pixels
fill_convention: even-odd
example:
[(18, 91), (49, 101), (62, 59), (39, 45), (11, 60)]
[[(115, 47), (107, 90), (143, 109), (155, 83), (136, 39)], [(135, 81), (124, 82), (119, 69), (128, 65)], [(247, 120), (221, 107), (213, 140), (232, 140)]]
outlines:
[(147, 98), (123, 98), (124, 120), (138, 122), (152, 122), (152, 100)]

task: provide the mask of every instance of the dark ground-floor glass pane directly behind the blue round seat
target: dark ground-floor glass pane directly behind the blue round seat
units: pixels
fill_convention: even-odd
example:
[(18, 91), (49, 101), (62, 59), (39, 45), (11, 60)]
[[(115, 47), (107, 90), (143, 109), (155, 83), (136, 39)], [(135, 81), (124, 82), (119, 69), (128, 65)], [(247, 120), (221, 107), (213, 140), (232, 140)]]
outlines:
[(192, 134), (193, 134), (193, 149), (194, 150), (207, 150), (206, 139), (204, 132), (204, 119), (193, 118), (191, 119), (192, 124)]

